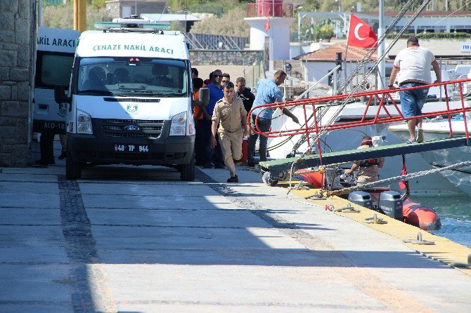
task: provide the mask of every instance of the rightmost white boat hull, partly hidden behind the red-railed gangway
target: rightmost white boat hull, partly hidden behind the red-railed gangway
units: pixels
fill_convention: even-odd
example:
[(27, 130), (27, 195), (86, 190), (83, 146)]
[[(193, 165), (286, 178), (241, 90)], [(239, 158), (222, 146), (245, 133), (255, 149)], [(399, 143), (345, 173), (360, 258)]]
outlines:
[[(471, 115), (467, 117), (467, 123), (471, 122)], [(422, 124), (424, 130), (424, 140), (437, 140), (441, 138), (450, 138), (450, 126), (448, 119), (432, 119), (424, 121)], [(465, 135), (465, 122), (463, 115), (456, 116), (451, 120), (451, 129), (453, 137)], [(467, 126), (471, 132), (471, 126)], [(409, 138), (407, 125), (392, 125), (388, 128), (389, 133), (400, 140)], [(420, 152), (420, 156), (434, 168), (442, 168), (451, 164), (457, 164), (463, 161), (471, 161), (471, 147), (457, 147), (451, 149), (441, 149), (429, 152)], [(440, 172), (449, 182), (458, 187), (462, 192), (471, 196), (471, 166), (455, 168)]]

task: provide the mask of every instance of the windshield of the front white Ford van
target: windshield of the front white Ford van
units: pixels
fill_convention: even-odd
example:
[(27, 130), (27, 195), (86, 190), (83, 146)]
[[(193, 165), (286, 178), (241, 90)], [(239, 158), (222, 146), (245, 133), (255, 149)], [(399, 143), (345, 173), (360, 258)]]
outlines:
[(186, 97), (186, 61), (154, 58), (82, 58), (79, 94)]

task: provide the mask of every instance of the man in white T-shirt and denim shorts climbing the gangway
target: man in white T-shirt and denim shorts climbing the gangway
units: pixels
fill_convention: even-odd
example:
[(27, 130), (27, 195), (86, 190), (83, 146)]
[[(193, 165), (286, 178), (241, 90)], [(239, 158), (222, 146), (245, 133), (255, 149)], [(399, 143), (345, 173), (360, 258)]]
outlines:
[[(433, 67), (437, 80), (434, 83), (441, 82), (441, 72), (435, 56), (427, 48), (419, 46), (419, 39), (412, 36), (407, 40), (407, 48), (399, 51), (394, 59), (394, 67), (389, 76), (389, 88), (394, 88), (394, 79), (398, 75), (400, 88), (410, 88), (415, 86), (424, 86), (432, 83), (430, 67)], [(428, 88), (400, 91), (401, 109), (404, 117), (422, 115), (422, 107), (427, 99)], [(409, 139), (406, 143), (422, 142), (422, 118), (409, 119), (407, 121)], [(417, 139), (415, 139), (415, 126), (418, 126)]]

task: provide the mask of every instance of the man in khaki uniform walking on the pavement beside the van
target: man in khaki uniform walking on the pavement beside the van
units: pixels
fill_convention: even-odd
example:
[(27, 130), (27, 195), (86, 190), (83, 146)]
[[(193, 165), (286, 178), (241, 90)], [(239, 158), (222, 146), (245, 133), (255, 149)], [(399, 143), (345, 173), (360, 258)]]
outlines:
[(234, 84), (226, 81), (223, 87), (224, 98), (216, 102), (212, 114), (211, 147), (214, 149), (217, 145), (216, 132), (218, 132), (224, 164), (231, 172), (231, 177), (227, 182), (239, 182), (234, 159), (242, 158), (242, 140), (243, 136), (248, 133), (247, 112), (242, 100), (234, 97)]

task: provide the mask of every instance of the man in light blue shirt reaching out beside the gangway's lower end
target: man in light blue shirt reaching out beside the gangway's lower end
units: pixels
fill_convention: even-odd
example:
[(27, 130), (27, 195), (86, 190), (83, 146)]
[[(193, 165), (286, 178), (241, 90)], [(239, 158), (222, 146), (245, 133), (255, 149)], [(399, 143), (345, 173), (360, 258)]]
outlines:
[[(283, 102), (283, 96), (281, 95), (280, 86), (283, 84), (286, 78), (286, 73), (282, 70), (279, 70), (273, 76), (273, 79), (261, 79), (259, 84), (257, 84), (257, 95), (255, 96), (254, 105), (255, 109), (252, 111), (252, 116), (250, 116), (250, 126), (252, 129), (255, 128), (255, 119), (257, 119), (257, 125), (259, 130), (262, 132), (267, 132), (271, 127), (271, 118), (275, 109), (264, 109), (262, 107), (257, 108), (259, 105), (271, 104), (275, 102)], [(290, 116), (290, 118), (297, 124), (299, 121), (296, 116), (294, 116), (288, 109), (283, 107), (283, 113)], [(259, 135), (256, 133), (250, 133), (249, 145), (247, 147), (247, 165), (254, 166), (254, 152), (255, 144), (257, 143), (257, 138)], [(259, 155), (260, 161), (266, 161), (266, 142), (268, 138), (265, 136), (260, 136), (260, 146), (259, 146)]]

